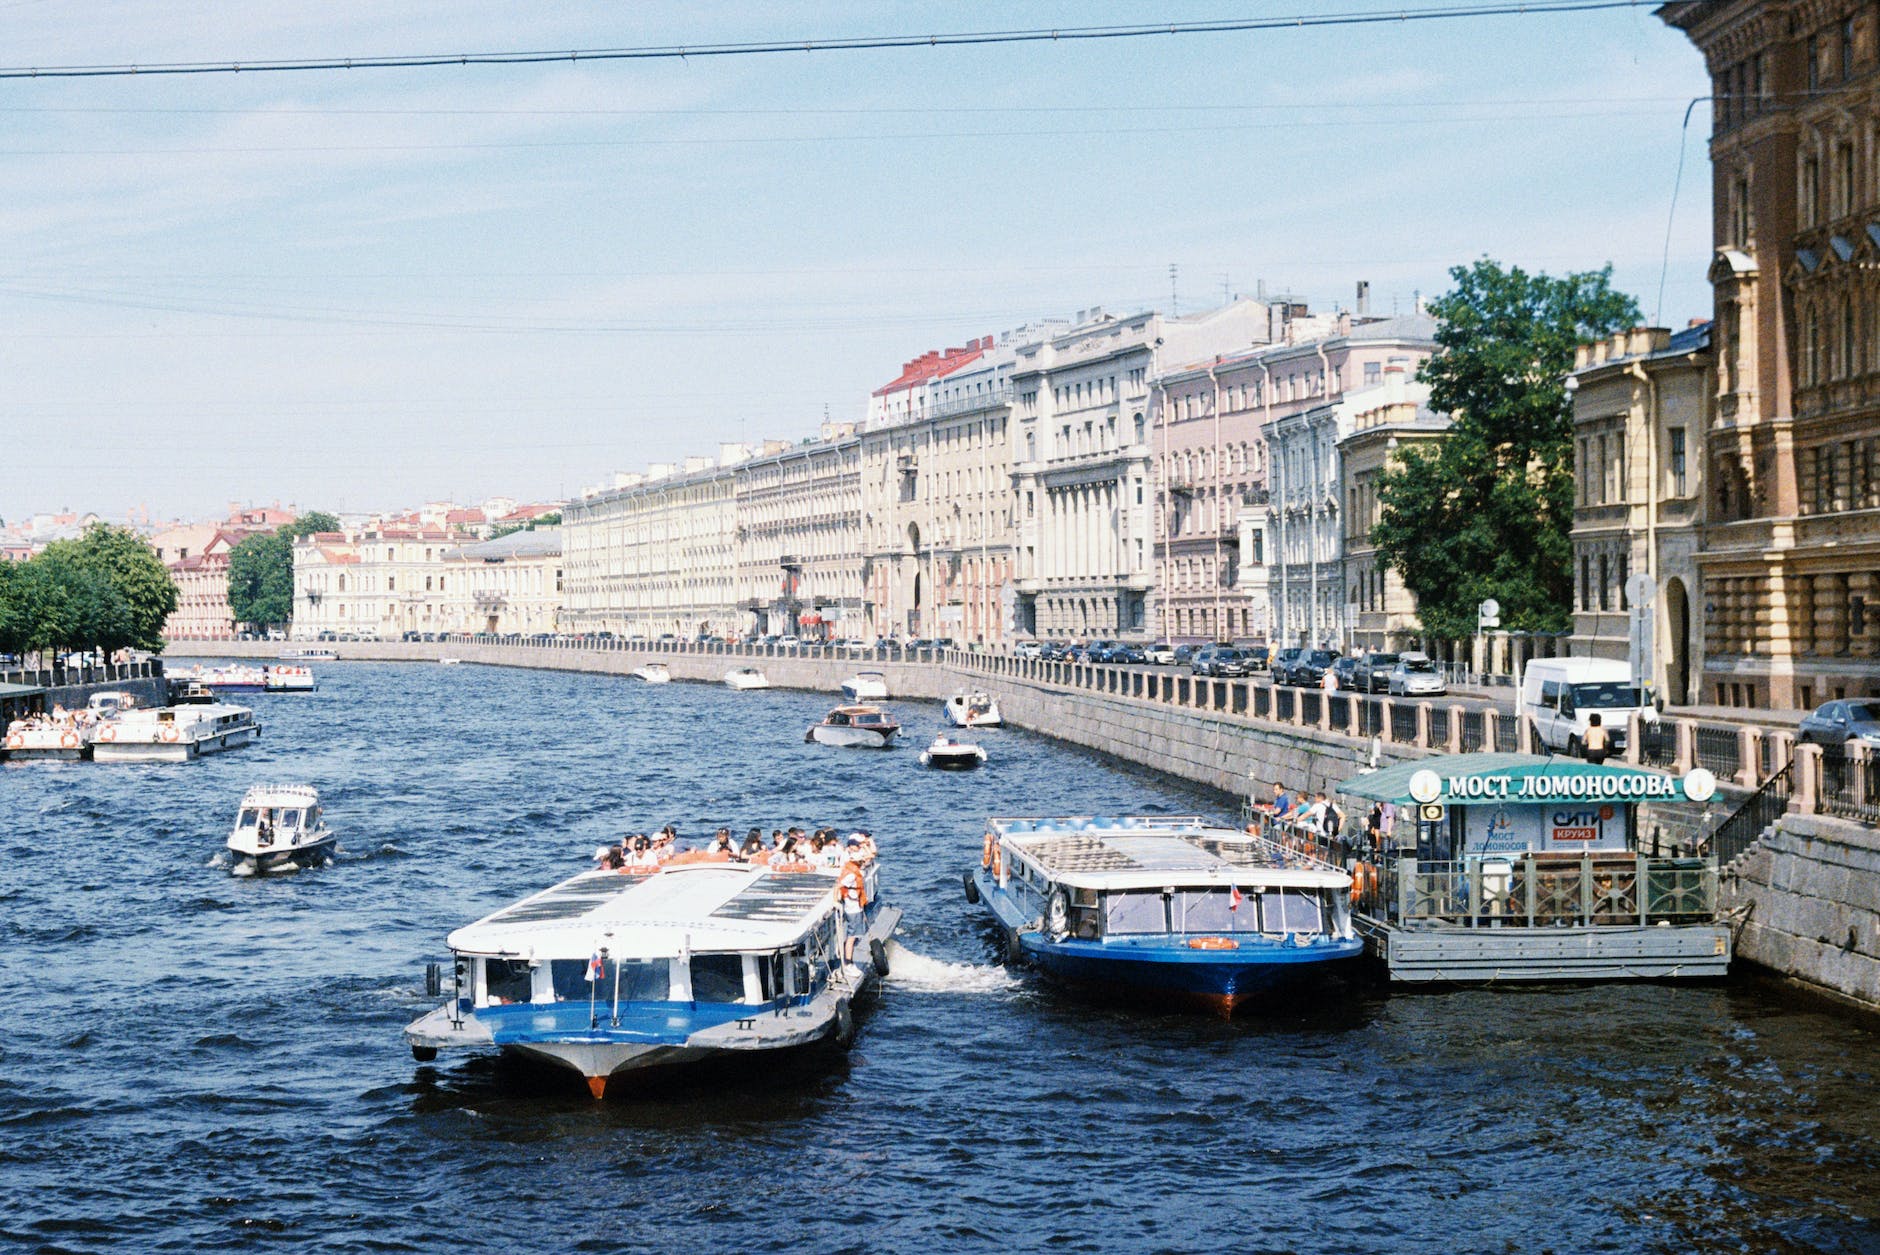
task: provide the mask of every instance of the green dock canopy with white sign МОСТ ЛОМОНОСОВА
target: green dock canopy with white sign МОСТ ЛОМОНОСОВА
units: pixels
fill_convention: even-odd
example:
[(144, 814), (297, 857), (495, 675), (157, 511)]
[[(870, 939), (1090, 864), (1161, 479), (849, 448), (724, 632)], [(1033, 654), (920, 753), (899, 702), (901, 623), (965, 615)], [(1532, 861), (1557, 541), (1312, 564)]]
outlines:
[(1354, 776), (1339, 793), (1397, 806), (1487, 802), (1705, 802), (1711, 772), (1679, 778), (1645, 767), (1594, 765), (1538, 753), (1446, 753)]

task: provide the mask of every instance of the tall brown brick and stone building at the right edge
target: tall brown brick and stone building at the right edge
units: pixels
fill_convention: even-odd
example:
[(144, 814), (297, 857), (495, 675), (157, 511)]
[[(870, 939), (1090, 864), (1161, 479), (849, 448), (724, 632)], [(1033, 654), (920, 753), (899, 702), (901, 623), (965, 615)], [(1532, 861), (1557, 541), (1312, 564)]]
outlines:
[(1701, 697), (1880, 695), (1880, 11), (1658, 13), (1715, 85)]

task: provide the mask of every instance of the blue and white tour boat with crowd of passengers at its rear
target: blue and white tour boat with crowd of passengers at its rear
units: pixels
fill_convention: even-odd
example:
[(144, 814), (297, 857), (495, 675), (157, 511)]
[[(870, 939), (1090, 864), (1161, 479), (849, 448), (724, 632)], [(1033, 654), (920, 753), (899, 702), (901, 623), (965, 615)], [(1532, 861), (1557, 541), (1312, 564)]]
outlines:
[(596, 1099), (639, 1069), (848, 1048), (854, 1001), (885, 975), (901, 921), (876, 872), (859, 868), (859, 913), (838, 900), (842, 874), (808, 864), (681, 855), (585, 872), (449, 934), (449, 1001), (404, 1039), (419, 1061), (444, 1046), (547, 1060), (581, 1073)]

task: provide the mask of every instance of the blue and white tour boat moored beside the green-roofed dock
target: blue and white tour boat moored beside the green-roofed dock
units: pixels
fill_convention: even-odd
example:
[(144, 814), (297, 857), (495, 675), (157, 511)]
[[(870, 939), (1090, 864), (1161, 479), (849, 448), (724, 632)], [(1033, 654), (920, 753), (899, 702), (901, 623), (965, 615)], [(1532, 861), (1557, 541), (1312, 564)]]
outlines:
[(1235, 1005), (1363, 953), (1352, 877), (1198, 817), (991, 819), (966, 900), (1006, 958), (1134, 999)]

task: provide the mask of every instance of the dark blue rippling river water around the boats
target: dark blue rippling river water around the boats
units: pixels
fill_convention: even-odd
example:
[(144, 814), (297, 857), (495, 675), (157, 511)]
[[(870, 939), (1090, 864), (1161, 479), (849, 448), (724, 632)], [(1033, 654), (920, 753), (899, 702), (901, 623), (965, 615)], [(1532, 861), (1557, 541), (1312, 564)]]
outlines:
[[(1226, 798), (989, 731), (929, 774), (808, 693), (325, 663), (194, 765), (0, 767), (0, 1242), (327, 1251), (1880, 1249), (1876, 1031), (1771, 986), (1126, 1013), (995, 964), (991, 813)], [(239, 879), (261, 782), (333, 866)], [(622, 830), (870, 829), (906, 909), (848, 1056), (615, 1086), (414, 1063), (444, 934)]]

